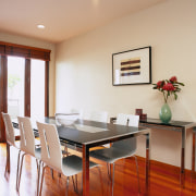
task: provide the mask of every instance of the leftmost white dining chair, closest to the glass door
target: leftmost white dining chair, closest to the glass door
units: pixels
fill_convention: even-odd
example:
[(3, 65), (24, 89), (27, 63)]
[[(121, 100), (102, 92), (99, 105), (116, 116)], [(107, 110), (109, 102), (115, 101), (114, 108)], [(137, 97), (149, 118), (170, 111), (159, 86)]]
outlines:
[[(9, 113), (4, 113), (4, 112), (1, 112), (1, 113), (3, 118), (4, 126), (5, 126), (7, 145), (9, 148), (13, 146), (19, 150), (17, 171), (16, 171), (16, 189), (17, 189), (17, 176), (19, 176), (19, 167), (20, 167), (20, 157), (21, 157), (20, 142), (15, 142), (15, 133), (14, 133), (14, 127), (12, 124), (11, 117), (9, 115)], [(8, 156), (10, 155), (8, 155), (8, 151), (7, 151), (7, 164), (5, 164), (5, 170), (4, 170), (4, 176), (8, 171), (8, 164), (9, 164)]]

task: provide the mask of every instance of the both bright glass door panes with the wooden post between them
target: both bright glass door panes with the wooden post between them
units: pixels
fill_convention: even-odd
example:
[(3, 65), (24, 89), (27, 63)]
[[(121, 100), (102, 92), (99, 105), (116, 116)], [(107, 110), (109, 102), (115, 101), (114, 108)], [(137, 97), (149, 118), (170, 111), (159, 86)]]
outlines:
[(45, 61), (8, 57), (8, 113), (45, 117)]

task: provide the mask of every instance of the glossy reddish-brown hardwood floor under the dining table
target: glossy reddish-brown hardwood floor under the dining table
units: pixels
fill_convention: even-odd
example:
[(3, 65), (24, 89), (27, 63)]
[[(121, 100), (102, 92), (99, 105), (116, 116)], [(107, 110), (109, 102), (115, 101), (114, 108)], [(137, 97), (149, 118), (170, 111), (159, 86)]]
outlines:
[[(11, 147), (11, 172), (4, 177), (5, 167), (5, 144), (0, 144), (0, 196), (35, 196), (36, 195), (36, 161), (34, 158), (26, 156), (23, 164), (20, 193), (15, 189), (17, 150)], [(138, 158), (140, 193), (138, 193), (138, 183), (134, 158), (120, 160), (115, 164), (115, 183), (114, 196), (195, 196), (196, 177), (191, 177), (191, 172), (186, 172), (185, 188), (180, 186), (180, 169), (151, 161), (150, 164), (150, 184), (148, 194), (145, 194), (145, 162)], [(107, 196), (109, 195), (107, 168), (103, 164), (101, 175), (98, 169), (90, 170), (90, 195)], [(78, 175), (78, 187), (81, 189), (81, 179)], [(42, 196), (65, 195), (65, 176), (59, 177), (54, 172), (52, 180), (50, 170), (47, 170), (42, 187)], [(77, 195), (74, 192), (73, 183), (70, 182), (69, 196)]]

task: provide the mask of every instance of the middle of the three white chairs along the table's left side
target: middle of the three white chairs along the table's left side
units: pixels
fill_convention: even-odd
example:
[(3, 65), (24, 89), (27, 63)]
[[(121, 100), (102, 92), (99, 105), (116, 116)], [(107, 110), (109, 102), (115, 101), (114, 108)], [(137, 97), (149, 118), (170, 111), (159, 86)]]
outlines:
[[(40, 146), (36, 145), (34, 131), (32, 128), (30, 119), (27, 117), (17, 117), (20, 133), (21, 133), (21, 150), (24, 152), (21, 159), (21, 167), (19, 172), (17, 191), (20, 189), (21, 174), (23, 168), (24, 156), (29, 155), (36, 159), (37, 170), (40, 163)], [(37, 195), (39, 189), (39, 179), (37, 177)]]

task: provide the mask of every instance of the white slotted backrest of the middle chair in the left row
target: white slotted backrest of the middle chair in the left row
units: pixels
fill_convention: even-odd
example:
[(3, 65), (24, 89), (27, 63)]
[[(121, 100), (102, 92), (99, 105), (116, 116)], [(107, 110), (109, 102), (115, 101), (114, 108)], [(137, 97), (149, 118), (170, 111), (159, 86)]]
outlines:
[(35, 136), (29, 118), (17, 117), (21, 133), (21, 150), (35, 156)]

